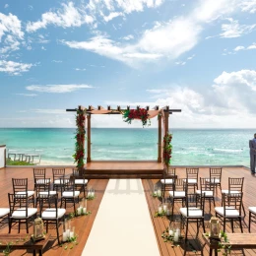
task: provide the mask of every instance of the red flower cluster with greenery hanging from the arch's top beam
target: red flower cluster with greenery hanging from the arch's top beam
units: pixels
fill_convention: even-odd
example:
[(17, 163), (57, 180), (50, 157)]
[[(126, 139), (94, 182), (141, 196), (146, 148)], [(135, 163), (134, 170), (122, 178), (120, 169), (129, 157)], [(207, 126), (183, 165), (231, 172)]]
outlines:
[(151, 125), (151, 120), (149, 119), (148, 110), (145, 108), (125, 110), (123, 113), (123, 119), (124, 119), (124, 122), (127, 122), (129, 124), (132, 123), (132, 120), (139, 119), (142, 121), (143, 126)]

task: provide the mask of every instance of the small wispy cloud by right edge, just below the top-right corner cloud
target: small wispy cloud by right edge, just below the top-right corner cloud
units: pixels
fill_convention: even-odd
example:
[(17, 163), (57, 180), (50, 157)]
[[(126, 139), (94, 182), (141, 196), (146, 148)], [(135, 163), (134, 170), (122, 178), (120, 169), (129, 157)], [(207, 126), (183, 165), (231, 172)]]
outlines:
[(234, 21), (232, 18), (226, 19), (230, 24), (223, 24), (223, 32), (220, 34), (224, 38), (239, 37), (243, 34), (253, 32), (256, 28), (256, 24), (253, 25), (239, 25), (238, 21)]

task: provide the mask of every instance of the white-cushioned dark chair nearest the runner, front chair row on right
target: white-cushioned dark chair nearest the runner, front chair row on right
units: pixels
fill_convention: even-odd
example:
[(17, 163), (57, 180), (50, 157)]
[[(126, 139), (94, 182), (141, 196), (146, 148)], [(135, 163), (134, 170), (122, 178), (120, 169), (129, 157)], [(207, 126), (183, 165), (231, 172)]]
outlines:
[[(186, 191), (188, 191), (186, 189)], [(203, 225), (203, 230), (204, 233), (206, 232), (205, 230), (205, 207), (204, 207), (204, 202), (203, 200), (204, 196), (201, 196), (198, 200), (198, 195), (197, 194), (187, 194), (186, 193), (186, 207), (182, 207), (179, 209), (180, 212), (180, 217), (181, 221), (186, 225), (186, 231), (185, 231), (185, 241), (187, 240), (187, 234), (188, 234), (188, 224), (190, 222), (195, 222), (197, 223), (197, 233), (196, 236), (198, 235), (199, 232), (199, 224), (202, 223)]]

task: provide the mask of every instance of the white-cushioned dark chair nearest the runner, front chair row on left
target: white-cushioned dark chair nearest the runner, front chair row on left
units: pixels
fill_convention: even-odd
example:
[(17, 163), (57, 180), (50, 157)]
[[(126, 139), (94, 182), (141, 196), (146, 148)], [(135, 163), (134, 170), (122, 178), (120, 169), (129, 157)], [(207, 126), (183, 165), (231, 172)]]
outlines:
[(44, 199), (44, 195), (39, 194), (38, 202), (40, 209), (40, 218), (46, 224), (46, 232), (48, 232), (48, 224), (56, 225), (57, 239), (58, 244), (60, 245), (59, 225), (61, 224), (61, 222), (64, 222), (66, 209), (58, 208), (58, 194), (50, 195), (49, 200), (51, 203), (46, 209), (44, 208)]

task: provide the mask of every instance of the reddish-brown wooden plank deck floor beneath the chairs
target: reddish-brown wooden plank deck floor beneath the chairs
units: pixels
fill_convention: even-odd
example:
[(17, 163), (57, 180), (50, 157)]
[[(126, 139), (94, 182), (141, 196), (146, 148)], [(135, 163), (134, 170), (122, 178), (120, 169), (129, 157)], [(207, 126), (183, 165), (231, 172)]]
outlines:
[[(47, 168), (47, 177), (52, 177), (51, 168)], [(66, 173), (70, 174), (71, 169), (67, 168)], [(178, 177), (185, 177), (185, 168), (176, 168), (176, 173)], [(200, 168), (199, 176), (201, 177), (208, 177), (209, 176), (209, 167)], [(256, 177), (251, 176), (250, 171), (245, 168), (241, 167), (224, 167), (223, 168), (223, 180), (222, 186), (223, 188), (227, 188), (227, 179), (228, 177), (245, 177), (244, 181), (244, 207), (246, 210), (246, 217), (243, 222), (244, 232), (248, 232), (247, 224), (248, 224), (248, 207), (256, 205), (255, 199), (255, 185), (256, 185)], [(12, 192), (12, 177), (28, 177), (29, 178), (29, 188), (32, 189), (33, 187), (33, 180), (32, 180), (32, 167), (24, 167), (24, 168), (2, 168), (0, 169), (0, 207), (8, 207), (8, 198), (7, 193)], [(72, 220), (72, 224), (75, 225), (76, 233), (78, 234), (78, 244), (74, 245), (73, 248), (72, 244), (68, 244), (67, 248), (65, 246), (59, 247), (56, 242), (56, 232), (55, 229), (52, 228), (49, 230), (51, 233), (51, 241), (48, 244), (47, 248), (45, 248), (44, 254), (45, 255), (53, 255), (53, 253), (57, 253), (59, 255), (81, 255), (81, 252), (84, 249), (86, 244), (87, 238), (90, 234), (91, 228), (94, 224), (96, 218), (96, 212), (98, 210), (99, 204), (101, 202), (105, 187), (107, 185), (107, 179), (91, 179), (89, 186), (93, 186), (96, 189), (96, 199), (93, 201), (88, 202), (88, 208), (92, 211), (92, 215), (78, 217)], [(198, 238), (195, 237), (195, 224), (189, 225), (189, 237), (188, 243), (186, 245), (182, 244), (179, 247), (171, 247), (169, 243), (164, 243), (163, 239), (161, 238), (161, 233), (165, 229), (166, 226), (169, 224), (169, 220), (166, 218), (154, 218), (155, 212), (157, 212), (159, 206), (159, 199), (152, 197), (152, 191), (154, 184), (159, 183), (159, 179), (143, 179), (143, 185), (145, 188), (146, 198), (149, 205), (149, 211), (152, 216), (152, 222), (155, 227), (156, 236), (158, 239), (160, 253), (162, 256), (168, 255), (183, 255), (184, 250), (186, 250), (186, 255), (201, 255), (200, 249), (202, 248), (202, 228), (200, 228), (200, 233)], [(217, 206), (221, 205), (221, 193), (220, 190), (216, 195), (216, 204)], [(174, 209), (174, 218), (175, 215), (178, 216), (178, 209), (179, 205), (175, 204)], [(211, 215), (214, 215), (214, 207), (212, 207), (211, 213), (209, 213), (209, 204), (206, 203), (206, 220), (210, 220)], [(72, 207), (67, 209), (67, 212), (72, 212)], [(61, 230), (61, 228), (60, 228)], [(32, 232), (32, 226), (30, 227), (30, 231)], [(183, 230), (182, 230), (183, 231)], [(252, 232), (256, 232), (256, 224), (252, 224), (251, 227)], [(8, 227), (7, 224), (4, 224), (0, 228), (0, 233), (7, 233)], [(17, 233), (17, 229), (12, 229), (12, 233)], [(21, 232), (25, 233), (25, 228), (22, 228)], [(230, 225), (227, 223), (226, 225), (226, 232), (230, 232)], [(235, 232), (240, 232), (239, 228), (235, 228)], [(100, 241), (99, 241), (100, 243)], [(14, 251), (11, 255), (26, 255), (26, 252), (23, 251)], [(209, 255), (208, 248), (204, 248), (204, 255)], [(222, 255), (222, 254), (220, 254)], [(231, 255), (256, 255), (256, 250), (244, 250), (244, 254), (241, 251), (232, 251)], [(135, 255), (136, 256), (136, 255)]]

